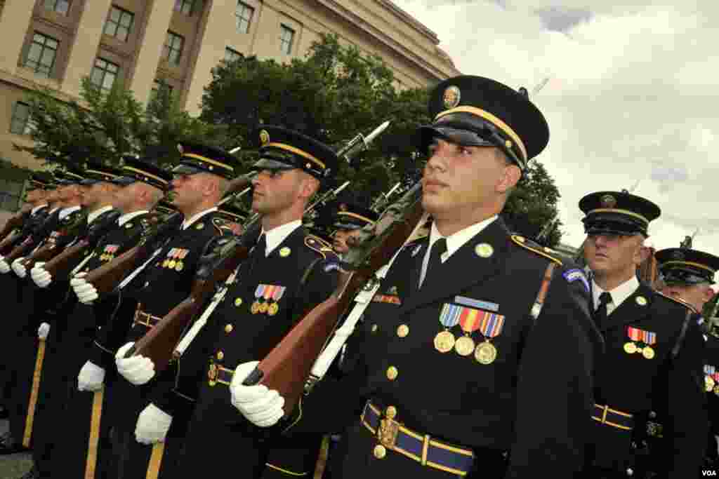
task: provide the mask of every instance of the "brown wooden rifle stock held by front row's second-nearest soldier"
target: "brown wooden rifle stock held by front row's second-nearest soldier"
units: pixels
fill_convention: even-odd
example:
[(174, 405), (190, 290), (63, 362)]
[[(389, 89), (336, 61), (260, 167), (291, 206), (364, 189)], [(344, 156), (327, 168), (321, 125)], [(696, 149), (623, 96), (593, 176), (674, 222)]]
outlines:
[(172, 360), (173, 350), (182, 339), (188, 325), (200, 312), (203, 304), (212, 297), (215, 284), (225, 282), (232, 271), (247, 259), (248, 254), (247, 246), (237, 244), (229, 254), (216, 262), (216, 266), (211, 267), (210, 274), (198, 274), (190, 296), (173, 307), (155, 327), (134, 343), (125, 354), (125, 358), (143, 355), (155, 363), (155, 373), (164, 371)]

